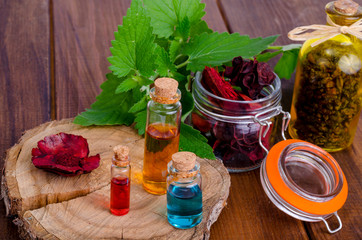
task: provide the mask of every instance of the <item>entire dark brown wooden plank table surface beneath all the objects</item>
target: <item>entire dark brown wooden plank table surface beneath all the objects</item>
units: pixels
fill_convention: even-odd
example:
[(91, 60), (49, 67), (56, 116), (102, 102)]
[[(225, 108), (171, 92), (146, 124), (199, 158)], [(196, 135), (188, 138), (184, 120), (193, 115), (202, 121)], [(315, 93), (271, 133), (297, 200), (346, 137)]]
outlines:
[[(325, 23), (328, 0), (205, 0), (205, 20), (215, 31), (251, 37), (280, 34), (300, 25)], [(113, 32), (130, 0), (0, 0), (0, 167), (6, 149), (22, 132), (89, 107), (109, 72)], [(289, 110), (292, 80), (283, 80)], [(265, 195), (259, 170), (231, 174), (228, 204), (211, 227), (211, 239), (362, 239), (362, 120), (352, 147), (332, 154), (349, 185), (338, 211), (343, 228), (329, 234), (322, 222), (296, 220)], [(334, 222), (334, 221), (332, 221)], [(19, 239), (0, 203), (0, 239)]]

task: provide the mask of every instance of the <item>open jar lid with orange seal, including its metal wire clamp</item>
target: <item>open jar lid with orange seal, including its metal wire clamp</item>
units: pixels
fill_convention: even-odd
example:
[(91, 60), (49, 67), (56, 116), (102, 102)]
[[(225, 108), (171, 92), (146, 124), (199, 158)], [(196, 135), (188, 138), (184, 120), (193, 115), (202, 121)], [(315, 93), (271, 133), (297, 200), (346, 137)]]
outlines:
[[(269, 199), (283, 212), (303, 221), (323, 221), (330, 233), (342, 228), (337, 214), (347, 199), (346, 178), (337, 161), (322, 148), (302, 140), (286, 140), (284, 131), (290, 115), (284, 114), (282, 135), (284, 140), (272, 147), (261, 165), (260, 177)], [(262, 125), (259, 139), (268, 130)], [(263, 128), (265, 130), (263, 130)], [(332, 230), (326, 219), (335, 215), (339, 226)]]

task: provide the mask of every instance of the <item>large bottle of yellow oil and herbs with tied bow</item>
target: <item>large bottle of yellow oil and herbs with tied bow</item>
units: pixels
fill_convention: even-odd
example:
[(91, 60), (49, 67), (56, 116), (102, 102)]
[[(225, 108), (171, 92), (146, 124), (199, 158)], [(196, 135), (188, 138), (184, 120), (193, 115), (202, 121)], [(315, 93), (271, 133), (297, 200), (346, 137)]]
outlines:
[(329, 26), (299, 27), (288, 35), (306, 40), (297, 63), (289, 134), (333, 152), (352, 144), (361, 112), (362, 7), (338, 0), (325, 11)]

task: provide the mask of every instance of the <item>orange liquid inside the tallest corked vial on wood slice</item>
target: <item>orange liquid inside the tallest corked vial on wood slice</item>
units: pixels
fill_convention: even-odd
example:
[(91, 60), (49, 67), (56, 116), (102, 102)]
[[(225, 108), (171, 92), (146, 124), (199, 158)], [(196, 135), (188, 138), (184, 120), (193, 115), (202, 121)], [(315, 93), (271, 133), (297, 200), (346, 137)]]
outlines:
[(165, 194), (167, 164), (178, 152), (179, 131), (170, 124), (153, 123), (146, 130), (143, 159), (143, 188), (152, 194)]

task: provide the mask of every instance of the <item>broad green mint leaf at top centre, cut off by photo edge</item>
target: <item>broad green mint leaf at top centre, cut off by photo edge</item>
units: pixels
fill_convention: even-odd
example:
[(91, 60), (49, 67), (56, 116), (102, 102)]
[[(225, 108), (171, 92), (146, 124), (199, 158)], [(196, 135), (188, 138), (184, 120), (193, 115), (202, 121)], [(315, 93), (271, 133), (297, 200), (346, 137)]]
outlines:
[(200, 0), (144, 0), (154, 33), (168, 38), (180, 22), (188, 18), (190, 26), (198, 24), (205, 15), (205, 4)]

